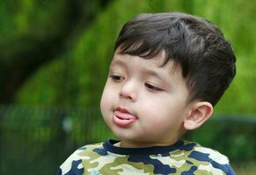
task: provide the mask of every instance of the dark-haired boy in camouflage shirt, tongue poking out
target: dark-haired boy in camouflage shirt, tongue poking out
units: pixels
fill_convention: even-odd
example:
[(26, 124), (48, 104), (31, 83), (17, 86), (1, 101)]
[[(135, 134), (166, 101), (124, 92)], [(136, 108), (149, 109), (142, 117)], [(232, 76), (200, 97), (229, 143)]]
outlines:
[(217, 151), (181, 141), (205, 123), (236, 73), (223, 33), (184, 13), (142, 14), (121, 29), (100, 109), (120, 140), (85, 145), (58, 174), (235, 174)]

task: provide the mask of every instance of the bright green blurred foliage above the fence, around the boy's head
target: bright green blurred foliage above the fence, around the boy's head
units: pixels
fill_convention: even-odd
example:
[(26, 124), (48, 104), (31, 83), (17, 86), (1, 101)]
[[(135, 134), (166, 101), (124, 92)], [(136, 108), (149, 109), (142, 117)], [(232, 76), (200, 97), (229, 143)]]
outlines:
[[(38, 15), (37, 18), (45, 18), (45, 21), (48, 21), (49, 16), (54, 16), (50, 14), (55, 10), (52, 1), (44, 1), (44, 6), (36, 5), (38, 3), (33, 0), (24, 2), (26, 3), (21, 4), (19, 9), (13, 10), (18, 11), (15, 16), (4, 15), (7, 18), (0, 18), (1, 21), (11, 21), (5, 28), (1, 28), (6, 34), (6, 39), (18, 37), (25, 32), (38, 32), (40, 35), (40, 29), (36, 28), (38, 20), (34, 17)], [(4, 9), (3, 5), (0, 8)], [(142, 12), (183, 11), (207, 18), (218, 25), (232, 43), (237, 55), (237, 76), (216, 106), (216, 113), (255, 113), (255, 9), (254, 0), (113, 1), (106, 11), (99, 11), (93, 25), (82, 31), (77, 42), (70, 45), (59, 59), (41, 66), (26, 81), (18, 90), (15, 103), (99, 106), (108, 64), (113, 56), (113, 44), (121, 26)], [(13, 27), (15, 32), (11, 30)]]

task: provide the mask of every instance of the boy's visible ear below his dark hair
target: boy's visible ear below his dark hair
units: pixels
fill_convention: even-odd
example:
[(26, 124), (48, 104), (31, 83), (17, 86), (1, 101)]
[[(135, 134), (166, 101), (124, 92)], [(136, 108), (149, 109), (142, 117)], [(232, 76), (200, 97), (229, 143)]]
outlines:
[(186, 130), (194, 130), (205, 123), (213, 112), (213, 106), (209, 102), (194, 102), (188, 116), (184, 120)]

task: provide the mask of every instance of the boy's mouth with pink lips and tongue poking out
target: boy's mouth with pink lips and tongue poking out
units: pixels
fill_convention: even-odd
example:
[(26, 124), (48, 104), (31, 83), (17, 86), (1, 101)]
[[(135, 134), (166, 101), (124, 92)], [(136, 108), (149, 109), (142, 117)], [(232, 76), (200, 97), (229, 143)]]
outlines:
[(126, 112), (121, 112), (119, 110), (115, 110), (113, 112), (113, 123), (115, 123), (119, 127), (128, 127), (132, 123), (135, 123), (136, 119), (136, 116), (133, 116)]

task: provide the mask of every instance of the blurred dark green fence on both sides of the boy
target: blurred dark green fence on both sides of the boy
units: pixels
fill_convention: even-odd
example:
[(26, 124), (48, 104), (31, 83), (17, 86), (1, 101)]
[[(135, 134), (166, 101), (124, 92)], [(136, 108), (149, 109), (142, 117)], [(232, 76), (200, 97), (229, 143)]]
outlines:
[[(231, 159), (256, 158), (256, 117), (215, 116), (185, 139)], [(55, 174), (78, 147), (113, 137), (99, 109), (0, 106), (0, 174)]]

